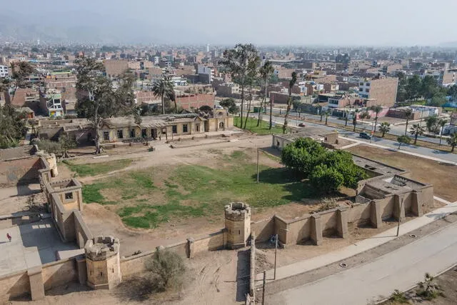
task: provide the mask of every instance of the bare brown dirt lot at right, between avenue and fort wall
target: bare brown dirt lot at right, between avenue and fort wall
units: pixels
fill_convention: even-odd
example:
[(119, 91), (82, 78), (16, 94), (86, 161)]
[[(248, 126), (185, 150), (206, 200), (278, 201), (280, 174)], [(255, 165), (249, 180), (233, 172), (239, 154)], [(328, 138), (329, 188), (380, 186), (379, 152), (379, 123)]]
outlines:
[(455, 181), (457, 181), (457, 166), (441, 164), (418, 156), (378, 149), (373, 146), (358, 145), (347, 150), (359, 156), (411, 171), (413, 179), (433, 184), (433, 191), (436, 196), (451, 202), (457, 200), (457, 188), (455, 185)]

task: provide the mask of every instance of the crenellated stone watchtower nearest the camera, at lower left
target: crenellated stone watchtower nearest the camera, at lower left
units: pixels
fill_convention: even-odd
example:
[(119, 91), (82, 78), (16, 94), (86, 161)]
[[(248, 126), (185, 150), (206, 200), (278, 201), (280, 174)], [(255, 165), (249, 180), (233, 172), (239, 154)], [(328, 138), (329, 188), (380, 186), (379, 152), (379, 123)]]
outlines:
[(86, 241), (87, 285), (93, 289), (112, 289), (121, 283), (119, 239), (94, 237)]

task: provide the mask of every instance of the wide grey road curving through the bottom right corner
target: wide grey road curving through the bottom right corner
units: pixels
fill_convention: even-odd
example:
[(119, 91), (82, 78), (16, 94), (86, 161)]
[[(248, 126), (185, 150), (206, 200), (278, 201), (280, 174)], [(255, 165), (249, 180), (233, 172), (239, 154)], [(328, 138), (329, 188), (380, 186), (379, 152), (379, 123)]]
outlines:
[(456, 264), (457, 224), (418, 239), (368, 264), (320, 281), (282, 291), (266, 304), (368, 304), (406, 290), (426, 272), (438, 274)]

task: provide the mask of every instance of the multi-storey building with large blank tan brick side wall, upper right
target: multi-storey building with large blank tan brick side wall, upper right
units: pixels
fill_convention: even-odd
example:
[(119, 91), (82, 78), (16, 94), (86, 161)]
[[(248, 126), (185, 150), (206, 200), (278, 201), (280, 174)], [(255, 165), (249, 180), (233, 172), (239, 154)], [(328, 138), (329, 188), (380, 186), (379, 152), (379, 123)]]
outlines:
[(359, 83), (358, 96), (367, 100), (376, 99), (376, 105), (391, 107), (395, 104), (397, 89), (398, 78), (377, 76)]

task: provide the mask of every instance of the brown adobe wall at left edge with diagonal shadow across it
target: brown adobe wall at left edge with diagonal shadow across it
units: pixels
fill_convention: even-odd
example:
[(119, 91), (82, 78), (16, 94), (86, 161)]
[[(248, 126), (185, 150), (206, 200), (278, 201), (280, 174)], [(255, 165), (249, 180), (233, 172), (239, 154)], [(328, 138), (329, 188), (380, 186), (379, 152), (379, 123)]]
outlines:
[(0, 160), (0, 187), (31, 184), (39, 181), (40, 156)]

